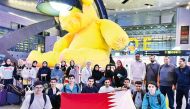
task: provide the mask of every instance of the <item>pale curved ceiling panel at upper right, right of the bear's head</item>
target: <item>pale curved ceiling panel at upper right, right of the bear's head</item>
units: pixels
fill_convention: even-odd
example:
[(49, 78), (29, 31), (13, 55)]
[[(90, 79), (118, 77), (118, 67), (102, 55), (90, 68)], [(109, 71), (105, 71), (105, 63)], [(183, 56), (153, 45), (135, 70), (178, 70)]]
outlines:
[[(178, 6), (184, 6), (190, 3), (190, 0), (128, 0), (122, 4), (124, 0), (103, 0), (109, 12), (138, 12), (165, 10)], [(151, 4), (149, 8), (145, 4)]]

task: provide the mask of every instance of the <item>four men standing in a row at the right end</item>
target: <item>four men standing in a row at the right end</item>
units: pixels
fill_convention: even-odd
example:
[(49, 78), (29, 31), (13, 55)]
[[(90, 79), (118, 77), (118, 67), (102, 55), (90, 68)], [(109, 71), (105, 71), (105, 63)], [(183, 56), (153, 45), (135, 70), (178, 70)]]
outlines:
[[(131, 64), (131, 83), (134, 83), (134, 81), (142, 81), (146, 86), (146, 92), (149, 91), (151, 94), (148, 83), (154, 82), (156, 83), (157, 88), (159, 88), (158, 91), (161, 92), (161, 95), (163, 94), (166, 96), (167, 94), (170, 109), (182, 109), (183, 96), (185, 96), (186, 99), (185, 109), (190, 109), (190, 102), (188, 100), (190, 99), (190, 67), (186, 64), (184, 58), (179, 59), (178, 67), (170, 63), (170, 58), (168, 56), (164, 57), (163, 65), (160, 65), (155, 60), (154, 55), (149, 56), (150, 63), (147, 65), (140, 59), (140, 54), (136, 54), (135, 58), (136, 61)], [(175, 90), (176, 107), (174, 106)], [(150, 102), (154, 100), (150, 100)], [(154, 109), (155, 107), (152, 108)]]

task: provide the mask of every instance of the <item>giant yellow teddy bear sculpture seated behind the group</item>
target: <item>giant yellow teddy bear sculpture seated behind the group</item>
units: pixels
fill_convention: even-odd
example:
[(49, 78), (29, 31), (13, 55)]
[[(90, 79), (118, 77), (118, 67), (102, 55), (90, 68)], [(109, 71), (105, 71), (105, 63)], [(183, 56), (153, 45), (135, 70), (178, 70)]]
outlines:
[(49, 66), (54, 66), (61, 60), (74, 60), (81, 66), (87, 61), (102, 67), (108, 64), (111, 49), (121, 50), (129, 40), (119, 25), (97, 16), (93, 2), (81, 0), (82, 11), (72, 8), (67, 15), (60, 12), (61, 27), (68, 31), (68, 34), (55, 42), (52, 51), (32, 51), (27, 60), (37, 60), (38, 65), (47, 61)]

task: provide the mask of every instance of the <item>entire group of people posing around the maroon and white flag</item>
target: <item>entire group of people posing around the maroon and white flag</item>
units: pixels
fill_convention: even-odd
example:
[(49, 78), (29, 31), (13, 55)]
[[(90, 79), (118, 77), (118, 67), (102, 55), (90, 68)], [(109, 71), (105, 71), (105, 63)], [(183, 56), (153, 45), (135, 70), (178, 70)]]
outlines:
[[(137, 109), (166, 109), (166, 94), (169, 108), (174, 109), (176, 90), (176, 109), (181, 109), (183, 96), (186, 98), (186, 109), (189, 109), (190, 68), (185, 59), (179, 59), (177, 68), (170, 64), (167, 56), (164, 57), (163, 65), (155, 60), (154, 55), (149, 59), (150, 63), (145, 64), (137, 53), (130, 65), (130, 73), (120, 60), (116, 66), (108, 64), (105, 69), (98, 64), (91, 69), (91, 62), (80, 69), (74, 60), (70, 61), (69, 66), (66, 61), (62, 61), (53, 69), (44, 61), (38, 69), (37, 61), (16, 66), (7, 59), (0, 67), (0, 78), (5, 86), (22, 83), (22, 88), (33, 87), (34, 94), (25, 97), (21, 109), (59, 109), (61, 93), (108, 93), (121, 90), (131, 92)], [(64, 85), (60, 89), (57, 84)]]

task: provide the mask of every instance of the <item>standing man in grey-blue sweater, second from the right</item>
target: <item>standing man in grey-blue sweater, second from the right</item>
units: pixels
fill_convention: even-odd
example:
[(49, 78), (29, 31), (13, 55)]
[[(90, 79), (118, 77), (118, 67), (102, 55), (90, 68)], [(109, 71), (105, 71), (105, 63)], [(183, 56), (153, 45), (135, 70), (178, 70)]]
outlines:
[(168, 56), (164, 57), (164, 64), (160, 67), (157, 85), (164, 96), (167, 94), (170, 109), (174, 109), (176, 73), (175, 66), (170, 64)]

